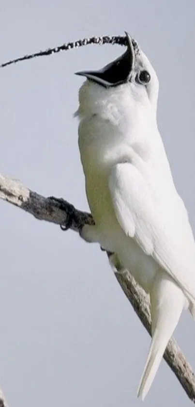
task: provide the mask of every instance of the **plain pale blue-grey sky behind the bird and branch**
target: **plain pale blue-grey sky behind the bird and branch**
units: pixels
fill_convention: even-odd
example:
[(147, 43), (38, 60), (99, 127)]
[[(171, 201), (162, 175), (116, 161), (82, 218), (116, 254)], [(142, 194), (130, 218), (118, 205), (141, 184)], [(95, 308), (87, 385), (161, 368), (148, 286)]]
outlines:
[[(158, 123), (195, 232), (195, 0), (1, 0), (0, 63), (127, 30), (155, 67)], [(88, 46), (0, 69), (0, 172), (88, 210), (75, 71), (124, 49)], [(175, 337), (195, 369), (195, 323)], [(0, 386), (9, 407), (127, 407), (150, 337), (98, 245), (0, 201)], [(191, 405), (163, 361), (145, 407)]]

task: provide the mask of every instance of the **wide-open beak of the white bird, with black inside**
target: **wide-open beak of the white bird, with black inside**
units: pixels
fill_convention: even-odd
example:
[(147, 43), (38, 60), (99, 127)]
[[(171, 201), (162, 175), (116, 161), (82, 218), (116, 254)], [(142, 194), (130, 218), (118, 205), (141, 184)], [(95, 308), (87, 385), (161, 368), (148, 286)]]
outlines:
[(99, 83), (105, 88), (118, 86), (130, 80), (135, 64), (135, 49), (131, 36), (126, 33), (127, 50), (119, 58), (98, 71), (81, 71), (75, 75), (86, 76), (87, 79)]

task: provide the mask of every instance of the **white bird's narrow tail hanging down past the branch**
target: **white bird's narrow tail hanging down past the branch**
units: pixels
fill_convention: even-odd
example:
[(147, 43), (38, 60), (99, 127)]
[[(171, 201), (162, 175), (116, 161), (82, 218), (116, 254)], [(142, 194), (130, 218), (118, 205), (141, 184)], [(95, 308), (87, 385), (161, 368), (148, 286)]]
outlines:
[(150, 292), (152, 340), (137, 396), (144, 400), (148, 393), (166, 345), (178, 324), (185, 296), (176, 283), (166, 274), (158, 273)]

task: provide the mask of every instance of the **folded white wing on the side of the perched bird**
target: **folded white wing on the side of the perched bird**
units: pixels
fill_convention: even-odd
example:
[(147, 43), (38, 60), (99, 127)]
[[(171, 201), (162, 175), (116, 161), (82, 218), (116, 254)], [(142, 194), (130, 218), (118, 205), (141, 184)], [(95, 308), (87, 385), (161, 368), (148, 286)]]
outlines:
[(173, 198), (163, 199), (162, 194), (162, 202), (157, 201), (150, 184), (131, 163), (113, 166), (109, 189), (121, 228), (169, 273), (194, 308), (195, 242), (179, 195), (174, 192)]

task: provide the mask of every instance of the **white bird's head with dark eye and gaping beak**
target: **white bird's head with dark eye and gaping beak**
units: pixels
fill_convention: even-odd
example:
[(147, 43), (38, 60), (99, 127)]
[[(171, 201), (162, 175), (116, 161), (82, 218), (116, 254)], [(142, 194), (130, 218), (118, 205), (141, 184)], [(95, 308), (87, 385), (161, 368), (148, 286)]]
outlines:
[(156, 113), (159, 88), (156, 72), (135, 40), (128, 33), (126, 38), (127, 50), (119, 58), (96, 71), (76, 72), (87, 78), (81, 93), (86, 98), (87, 85), (88, 95), (101, 94), (104, 99), (113, 95), (123, 98), (125, 94), (133, 103), (151, 105)]

